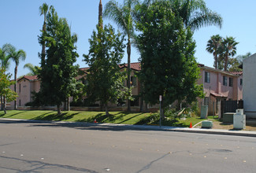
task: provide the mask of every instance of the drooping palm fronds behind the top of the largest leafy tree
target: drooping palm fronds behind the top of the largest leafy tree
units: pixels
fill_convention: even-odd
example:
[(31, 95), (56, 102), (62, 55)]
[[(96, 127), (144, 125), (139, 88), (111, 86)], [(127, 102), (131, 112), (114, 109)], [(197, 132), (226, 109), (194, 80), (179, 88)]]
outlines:
[(204, 0), (145, 0), (143, 3), (150, 6), (161, 1), (169, 2), (175, 16), (181, 17), (185, 27), (190, 27), (192, 31), (210, 25), (222, 26), (221, 15), (208, 9)]

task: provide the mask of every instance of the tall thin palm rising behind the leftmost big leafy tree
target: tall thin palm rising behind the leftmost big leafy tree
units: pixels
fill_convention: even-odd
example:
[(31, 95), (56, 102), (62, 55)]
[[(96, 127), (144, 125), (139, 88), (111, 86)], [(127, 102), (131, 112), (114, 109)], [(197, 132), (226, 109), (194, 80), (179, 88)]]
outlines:
[[(46, 32), (46, 15), (48, 11), (52, 8), (52, 6), (49, 6), (46, 3), (43, 3), (42, 6), (39, 7), (39, 13), (40, 16), (43, 15), (43, 32)], [(41, 66), (43, 67), (45, 64), (45, 57), (46, 57), (46, 42), (41, 42), (42, 44), (42, 53), (41, 53)]]

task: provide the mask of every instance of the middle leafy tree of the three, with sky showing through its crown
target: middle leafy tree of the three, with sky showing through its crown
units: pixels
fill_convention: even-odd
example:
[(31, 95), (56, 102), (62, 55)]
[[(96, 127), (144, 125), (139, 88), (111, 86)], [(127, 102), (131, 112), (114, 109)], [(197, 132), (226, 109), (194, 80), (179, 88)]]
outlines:
[(84, 61), (90, 67), (86, 76), (86, 93), (89, 100), (104, 105), (106, 115), (109, 115), (108, 103), (117, 103), (117, 99), (127, 93), (131, 96), (131, 90), (124, 87), (124, 73), (119, 67), (124, 56), (124, 37), (119, 32), (115, 34), (110, 24), (104, 28), (101, 26), (100, 22), (97, 32), (93, 31), (89, 39), (89, 53), (83, 54)]

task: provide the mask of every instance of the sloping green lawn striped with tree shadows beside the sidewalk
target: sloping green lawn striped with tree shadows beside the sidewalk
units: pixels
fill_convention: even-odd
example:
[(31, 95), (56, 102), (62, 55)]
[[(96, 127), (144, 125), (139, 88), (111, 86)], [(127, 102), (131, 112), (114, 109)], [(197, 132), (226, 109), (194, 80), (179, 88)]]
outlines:
[[(140, 112), (109, 112), (110, 116), (106, 116), (105, 112), (90, 112), (90, 111), (70, 111), (62, 112), (58, 116), (56, 111), (17, 111), (8, 110), (5, 115), (0, 111), (0, 118), (9, 119), (25, 119), (25, 120), (50, 120), (50, 121), (71, 121), (71, 122), (88, 122), (93, 123), (96, 119), (98, 123), (121, 123), (121, 124), (136, 124), (136, 125), (158, 125), (159, 116), (154, 113)], [(199, 117), (191, 117), (186, 120), (165, 120), (162, 125), (174, 127), (189, 127), (190, 123), (195, 125), (202, 121)]]

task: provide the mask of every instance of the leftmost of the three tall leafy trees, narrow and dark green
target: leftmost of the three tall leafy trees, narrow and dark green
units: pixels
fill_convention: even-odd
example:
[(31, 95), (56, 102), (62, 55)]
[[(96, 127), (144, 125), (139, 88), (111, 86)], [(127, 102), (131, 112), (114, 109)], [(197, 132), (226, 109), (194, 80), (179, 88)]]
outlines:
[(76, 35), (71, 35), (65, 18), (59, 18), (54, 7), (46, 16), (46, 32), (39, 37), (39, 42), (46, 42), (46, 64), (39, 71), (42, 81), (40, 94), (43, 102), (57, 105), (61, 114), (61, 104), (67, 101), (72, 91), (76, 90)]

